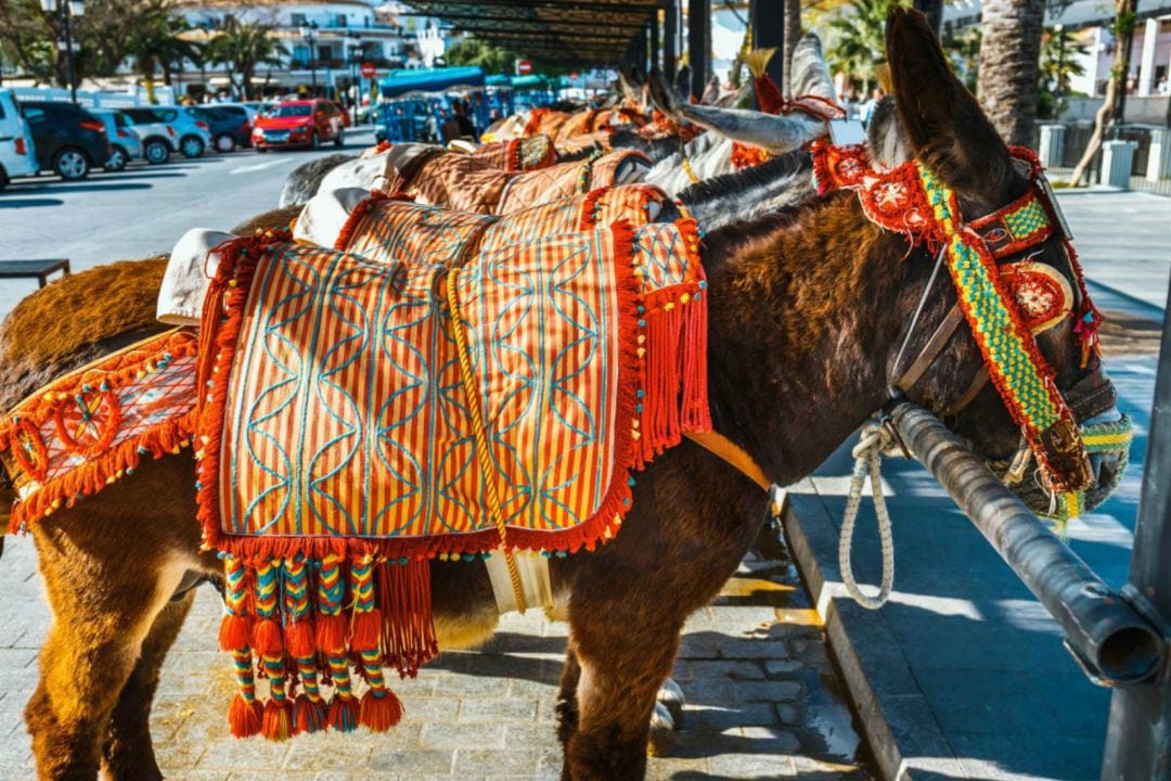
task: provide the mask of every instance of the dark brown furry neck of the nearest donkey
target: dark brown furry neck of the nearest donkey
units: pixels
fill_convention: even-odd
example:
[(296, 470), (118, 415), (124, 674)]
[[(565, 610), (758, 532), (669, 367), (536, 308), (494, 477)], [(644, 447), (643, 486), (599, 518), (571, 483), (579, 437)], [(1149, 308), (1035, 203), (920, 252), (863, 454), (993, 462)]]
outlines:
[(705, 239), (712, 420), (773, 481), (809, 474), (885, 400), (920, 273), (906, 255), (844, 193)]

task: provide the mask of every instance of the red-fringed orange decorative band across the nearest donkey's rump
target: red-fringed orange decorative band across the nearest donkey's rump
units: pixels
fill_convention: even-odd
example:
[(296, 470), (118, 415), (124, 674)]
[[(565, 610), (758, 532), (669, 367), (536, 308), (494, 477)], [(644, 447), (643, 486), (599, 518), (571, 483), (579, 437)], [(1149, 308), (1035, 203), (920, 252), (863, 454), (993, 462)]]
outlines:
[(57, 378), (0, 420), (16, 494), (9, 532), (132, 474), (143, 455), (187, 444), (196, 343), (190, 329), (152, 336)]

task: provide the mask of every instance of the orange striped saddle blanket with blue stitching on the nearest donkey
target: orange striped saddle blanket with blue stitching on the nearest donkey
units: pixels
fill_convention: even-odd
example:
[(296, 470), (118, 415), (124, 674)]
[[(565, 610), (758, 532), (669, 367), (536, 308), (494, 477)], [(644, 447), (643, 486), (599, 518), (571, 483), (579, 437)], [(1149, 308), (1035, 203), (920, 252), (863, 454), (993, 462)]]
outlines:
[(371, 203), (350, 251), (220, 252), (208, 540), (479, 554), (500, 513), (511, 546), (593, 546), (629, 502), (626, 472), (710, 425), (693, 222), (549, 233)]

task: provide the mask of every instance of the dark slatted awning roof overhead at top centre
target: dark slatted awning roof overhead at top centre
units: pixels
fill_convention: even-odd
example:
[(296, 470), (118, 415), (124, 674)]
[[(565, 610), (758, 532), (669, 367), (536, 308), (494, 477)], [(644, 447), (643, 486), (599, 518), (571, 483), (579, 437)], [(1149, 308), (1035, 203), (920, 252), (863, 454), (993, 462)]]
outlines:
[(418, 15), (443, 19), (480, 40), (575, 66), (618, 62), (660, 7), (657, 0), (411, 0), (409, 5)]

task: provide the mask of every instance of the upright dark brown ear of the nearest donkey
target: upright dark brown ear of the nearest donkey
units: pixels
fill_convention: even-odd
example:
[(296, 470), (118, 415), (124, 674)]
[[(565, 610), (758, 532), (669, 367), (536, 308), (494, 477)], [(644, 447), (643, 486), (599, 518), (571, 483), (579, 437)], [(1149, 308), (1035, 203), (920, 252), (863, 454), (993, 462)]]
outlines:
[(1019, 194), (1008, 148), (952, 73), (926, 16), (908, 8), (890, 12), (886, 59), (915, 157), (979, 208), (1002, 206)]

